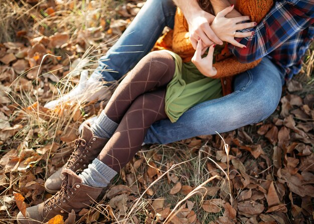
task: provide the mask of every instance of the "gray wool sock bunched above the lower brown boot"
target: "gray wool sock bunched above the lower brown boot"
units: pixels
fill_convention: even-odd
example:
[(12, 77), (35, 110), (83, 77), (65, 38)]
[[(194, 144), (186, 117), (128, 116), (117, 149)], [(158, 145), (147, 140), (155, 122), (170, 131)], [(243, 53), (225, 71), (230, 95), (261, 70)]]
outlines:
[(83, 184), (93, 187), (106, 187), (116, 174), (115, 170), (96, 158), (88, 165), (87, 169), (79, 174), (79, 177), (81, 177)]

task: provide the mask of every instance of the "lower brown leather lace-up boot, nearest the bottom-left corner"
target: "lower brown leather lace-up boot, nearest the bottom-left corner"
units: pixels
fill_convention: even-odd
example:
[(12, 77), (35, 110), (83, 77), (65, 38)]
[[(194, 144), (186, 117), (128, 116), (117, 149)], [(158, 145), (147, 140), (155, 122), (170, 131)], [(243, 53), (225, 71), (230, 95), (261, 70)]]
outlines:
[(26, 217), (20, 211), (17, 215), (19, 224), (45, 223), (57, 214), (66, 219), (74, 209), (76, 219), (83, 208), (89, 207), (99, 196), (102, 187), (92, 187), (82, 183), (82, 179), (72, 170), (66, 169), (62, 187), (54, 196), (38, 205), (26, 209)]

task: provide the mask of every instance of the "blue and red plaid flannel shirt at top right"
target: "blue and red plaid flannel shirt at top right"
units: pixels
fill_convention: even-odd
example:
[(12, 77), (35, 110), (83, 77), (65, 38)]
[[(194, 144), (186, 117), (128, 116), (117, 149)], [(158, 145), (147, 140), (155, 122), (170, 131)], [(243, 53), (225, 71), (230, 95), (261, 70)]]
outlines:
[(249, 63), (264, 56), (286, 71), (289, 80), (297, 74), (302, 57), (314, 38), (314, 0), (280, 0), (249, 38), (236, 38), (247, 48), (229, 45), (240, 62)]

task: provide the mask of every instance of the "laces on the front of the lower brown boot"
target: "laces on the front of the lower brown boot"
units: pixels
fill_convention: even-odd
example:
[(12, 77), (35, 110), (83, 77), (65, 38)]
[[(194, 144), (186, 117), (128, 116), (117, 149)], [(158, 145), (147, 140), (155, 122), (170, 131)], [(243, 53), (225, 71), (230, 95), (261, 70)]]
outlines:
[[(52, 210), (52, 207), (56, 208), (57, 207), (57, 202), (58, 205), (61, 205), (61, 200), (62, 202), (65, 202), (65, 197), (67, 192), (69, 192), (71, 187), (68, 185), (68, 175), (65, 175), (63, 178), (63, 183), (61, 186), (61, 189), (52, 197), (50, 197), (44, 204), (45, 207), (45, 212), (47, 212), (47, 209)], [(67, 196), (69, 198), (70, 196)]]

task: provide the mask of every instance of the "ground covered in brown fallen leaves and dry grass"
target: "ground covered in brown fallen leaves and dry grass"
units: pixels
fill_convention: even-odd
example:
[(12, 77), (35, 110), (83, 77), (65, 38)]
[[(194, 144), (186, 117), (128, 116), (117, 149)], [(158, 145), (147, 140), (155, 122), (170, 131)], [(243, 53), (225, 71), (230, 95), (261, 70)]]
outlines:
[[(69, 91), (83, 68), (95, 68), (143, 4), (1, 1), (1, 223), (16, 223), (19, 210), (52, 196), (45, 179), (66, 162), (79, 124), (106, 102), (43, 105)], [(76, 223), (313, 223), (313, 57), (308, 51), (270, 118), (221, 136), (144, 146)]]

